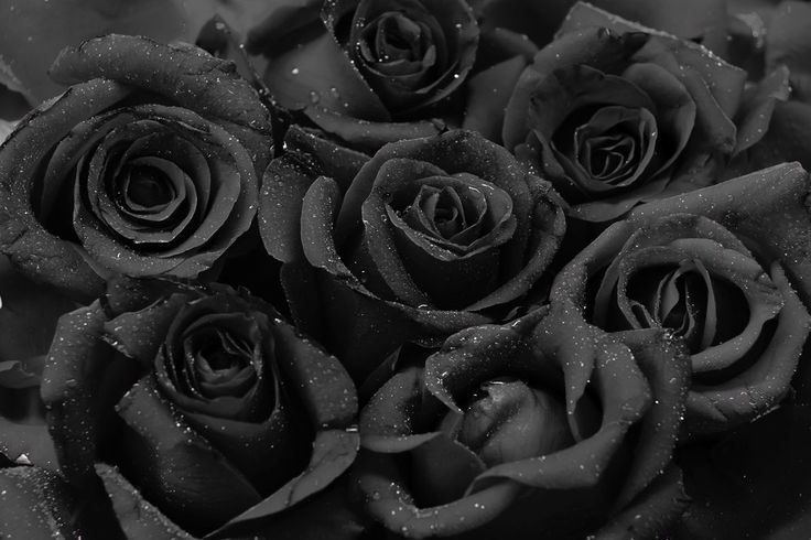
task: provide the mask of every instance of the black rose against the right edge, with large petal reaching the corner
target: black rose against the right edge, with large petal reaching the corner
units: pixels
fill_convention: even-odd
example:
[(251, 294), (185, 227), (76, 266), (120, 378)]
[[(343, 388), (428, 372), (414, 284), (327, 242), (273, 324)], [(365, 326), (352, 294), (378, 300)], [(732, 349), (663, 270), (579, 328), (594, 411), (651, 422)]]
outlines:
[(786, 164), (641, 206), (569, 262), (551, 302), (683, 338), (691, 434), (751, 421), (789, 391), (811, 324), (808, 188)]

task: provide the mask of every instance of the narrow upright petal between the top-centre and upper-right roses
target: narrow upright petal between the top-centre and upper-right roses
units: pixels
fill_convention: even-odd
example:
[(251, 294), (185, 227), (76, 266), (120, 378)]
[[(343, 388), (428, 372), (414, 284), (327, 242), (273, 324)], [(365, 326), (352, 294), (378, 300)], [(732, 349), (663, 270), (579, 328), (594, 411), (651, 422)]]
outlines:
[(505, 110), (527, 61), (513, 56), (476, 73), (467, 82), (465, 119), (462, 128), (501, 142)]

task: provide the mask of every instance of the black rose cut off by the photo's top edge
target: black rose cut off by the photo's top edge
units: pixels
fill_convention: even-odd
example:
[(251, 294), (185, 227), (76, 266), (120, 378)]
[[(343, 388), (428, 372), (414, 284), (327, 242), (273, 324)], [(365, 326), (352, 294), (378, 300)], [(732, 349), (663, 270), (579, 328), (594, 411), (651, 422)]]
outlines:
[[(246, 45), (267, 60), (263, 79), (277, 101), (303, 111), (299, 122), (375, 152), (445, 123), (476, 129), (488, 108), (506, 105), (537, 47), (477, 17), (465, 0), (284, 1)], [(488, 102), (463, 120), (467, 86), (486, 88)]]

